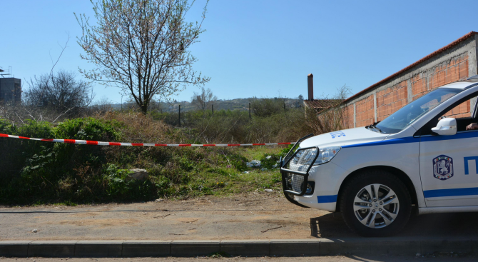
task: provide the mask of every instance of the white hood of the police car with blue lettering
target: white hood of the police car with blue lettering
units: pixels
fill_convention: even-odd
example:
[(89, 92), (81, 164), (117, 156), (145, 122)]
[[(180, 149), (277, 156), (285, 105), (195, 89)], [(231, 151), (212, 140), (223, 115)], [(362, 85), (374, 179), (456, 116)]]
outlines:
[(355, 129), (345, 129), (330, 133), (322, 133), (318, 136), (307, 138), (300, 143), (300, 148), (310, 146), (350, 146), (357, 143), (370, 143), (382, 141), (387, 138), (388, 134), (377, 133), (366, 129), (365, 126)]

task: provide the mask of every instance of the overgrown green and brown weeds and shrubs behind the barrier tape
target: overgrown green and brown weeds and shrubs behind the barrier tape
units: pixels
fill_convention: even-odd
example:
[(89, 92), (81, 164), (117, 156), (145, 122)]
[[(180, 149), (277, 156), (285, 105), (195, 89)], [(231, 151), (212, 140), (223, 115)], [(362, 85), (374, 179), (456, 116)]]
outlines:
[[(274, 103), (258, 107), (252, 119), (245, 111), (189, 111), (181, 127), (168, 124), (173, 114), (136, 111), (108, 111), (58, 124), (0, 119), (0, 133), (136, 143), (274, 143), (341, 128), (340, 108), (317, 117), (317, 112), (300, 107), (275, 111), (283, 103)], [(0, 203), (74, 205), (280, 190), (278, 160), (287, 152), (284, 146), (86, 146), (0, 138)], [(248, 167), (253, 159), (265, 169)], [(148, 179), (132, 179), (131, 168), (146, 169)]]

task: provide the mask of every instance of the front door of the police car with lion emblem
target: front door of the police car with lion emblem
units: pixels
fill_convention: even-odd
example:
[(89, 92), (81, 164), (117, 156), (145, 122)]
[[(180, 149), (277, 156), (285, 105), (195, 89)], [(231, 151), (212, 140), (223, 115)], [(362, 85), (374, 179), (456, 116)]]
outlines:
[(426, 130), (420, 136), (419, 169), (427, 207), (478, 206), (478, 131), (466, 131), (468, 124), (477, 122), (477, 106), (470, 114), (467, 99), (425, 125), (429, 129), (440, 117), (454, 117), (456, 134), (439, 136)]

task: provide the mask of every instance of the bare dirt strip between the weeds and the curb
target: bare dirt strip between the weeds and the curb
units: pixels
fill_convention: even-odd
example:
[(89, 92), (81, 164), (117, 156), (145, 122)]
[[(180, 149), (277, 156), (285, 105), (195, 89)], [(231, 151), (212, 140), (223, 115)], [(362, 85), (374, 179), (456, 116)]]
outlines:
[[(416, 216), (397, 237), (476, 237), (478, 213)], [(0, 207), (0, 240), (357, 238), (340, 213), (281, 192), (83, 206)]]

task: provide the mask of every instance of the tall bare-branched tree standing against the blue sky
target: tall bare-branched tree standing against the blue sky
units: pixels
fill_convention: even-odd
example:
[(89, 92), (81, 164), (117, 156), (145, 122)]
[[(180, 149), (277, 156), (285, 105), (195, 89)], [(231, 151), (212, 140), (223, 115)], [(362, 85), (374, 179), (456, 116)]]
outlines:
[(206, 12), (195, 24), (185, 21), (188, 0), (98, 0), (93, 3), (97, 25), (85, 14), (76, 16), (83, 34), (78, 37), (86, 55), (96, 65), (81, 70), (88, 78), (121, 87), (144, 114), (154, 96), (167, 99), (188, 84), (209, 81), (192, 68), (197, 59), (190, 46), (203, 33)]

